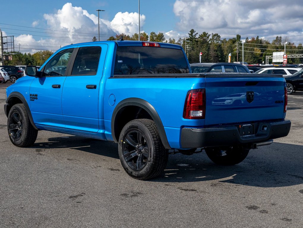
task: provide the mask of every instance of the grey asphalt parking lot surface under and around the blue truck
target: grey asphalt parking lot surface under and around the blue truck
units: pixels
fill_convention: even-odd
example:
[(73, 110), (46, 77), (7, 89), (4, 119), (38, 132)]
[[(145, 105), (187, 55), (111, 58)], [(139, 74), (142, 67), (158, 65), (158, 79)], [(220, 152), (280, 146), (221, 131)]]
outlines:
[(204, 152), (169, 156), (134, 180), (112, 142), (40, 131), (11, 144), (0, 87), (0, 227), (303, 227), (303, 92), (288, 96), (290, 134), (232, 167)]

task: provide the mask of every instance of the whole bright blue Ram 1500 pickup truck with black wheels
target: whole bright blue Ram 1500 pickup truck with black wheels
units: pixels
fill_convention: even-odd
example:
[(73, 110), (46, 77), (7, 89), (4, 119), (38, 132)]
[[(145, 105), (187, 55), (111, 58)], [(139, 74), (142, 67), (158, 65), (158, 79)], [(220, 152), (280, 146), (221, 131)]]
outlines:
[(282, 75), (191, 74), (179, 45), (68, 45), (25, 71), (6, 90), (15, 146), (33, 146), (39, 130), (114, 141), (123, 168), (139, 180), (163, 172), (169, 153), (205, 150), (216, 164), (238, 164), (291, 126)]

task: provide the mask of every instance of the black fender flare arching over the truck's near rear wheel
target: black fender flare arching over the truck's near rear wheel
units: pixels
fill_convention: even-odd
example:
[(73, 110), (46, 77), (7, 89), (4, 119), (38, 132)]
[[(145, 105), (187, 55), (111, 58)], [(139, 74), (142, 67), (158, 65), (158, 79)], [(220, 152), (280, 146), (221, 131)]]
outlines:
[(112, 128), (112, 138), (114, 139), (114, 141), (116, 143), (118, 143), (118, 139), (115, 137), (115, 119), (116, 116), (118, 114), (118, 112), (121, 110), (121, 108), (126, 107), (126, 106), (138, 106), (143, 108), (145, 111), (148, 112), (148, 114), (151, 116), (151, 118), (155, 121), (155, 124), (157, 126), (161, 141), (163, 146), (165, 147), (165, 149), (171, 149), (171, 147), (168, 144), (168, 140), (166, 137), (166, 133), (162, 124), (162, 121), (157, 113), (157, 111), (155, 110), (155, 108), (148, 103), (147, 101), (140, 99), (140, 98), (136, 98), (136, 97), (132, 97), (132, 98), (126, 98), (123, 101), (120, 101), (112, 114), (112, 123), (111, 123), (111, 128)]

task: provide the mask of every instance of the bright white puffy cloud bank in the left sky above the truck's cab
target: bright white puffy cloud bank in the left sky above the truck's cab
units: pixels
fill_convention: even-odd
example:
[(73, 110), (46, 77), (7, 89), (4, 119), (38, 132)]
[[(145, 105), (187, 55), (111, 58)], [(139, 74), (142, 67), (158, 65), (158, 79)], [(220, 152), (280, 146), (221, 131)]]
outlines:
[[(95, 13), (95, 12), (94, 12)], [(133, 35), (138, 33), (138, 13), (118, 12), (110, 20), (102, 19), (99, 15), (100, 40), (107, 40), (110, 36), (125, 33)], [(21, 52), (36, 52), (38, 49), (57, 50), (60, 46), (71, 43), (90, 42), (95, 36), (98, 39), (98, 16), (90, 14), (82, 7), (73, 6), (68, 2), (52, 14), (44, 14), (43, 20), (32, 22), (33, 27), (45, 23), (47, 26), (41, 39), (36, 36), (24, 34), (15, 37), (15, 43), (20, 43)], [(141, 27), (145, 23), (145, 15), (140, 15)], [(18, 47), (19, 48), (19, 47)]]

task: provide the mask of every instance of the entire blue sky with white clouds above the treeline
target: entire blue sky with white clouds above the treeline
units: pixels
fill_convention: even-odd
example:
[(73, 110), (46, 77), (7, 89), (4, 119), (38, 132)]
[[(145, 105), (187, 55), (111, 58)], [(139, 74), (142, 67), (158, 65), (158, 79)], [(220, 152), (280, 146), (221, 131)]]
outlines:
[[(290, 4), (291, 3), (291, 4)], [(56, 50), (70, 43), (100, 40), (110, 35), (138, 33), (138, 0), (114, 1), (26, 1), (1, 2), (0, 28), (14, 35), (21, 52)], [(301, 0), (140, 0), (141, 31), (162, 32), (165, 38), (183, 38), (193, 28), (218, 33), (221, 38), (259, 36), (270, 42), (303, 41)], [(5, 25), (6, 24), (6, 25)], [(26, 28), (27, 27), (27, 28)], [(48, 29), (48, 30), (46, 30)], [(20, 44), (20, 45), (17, 45)]]

